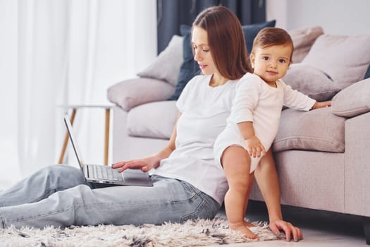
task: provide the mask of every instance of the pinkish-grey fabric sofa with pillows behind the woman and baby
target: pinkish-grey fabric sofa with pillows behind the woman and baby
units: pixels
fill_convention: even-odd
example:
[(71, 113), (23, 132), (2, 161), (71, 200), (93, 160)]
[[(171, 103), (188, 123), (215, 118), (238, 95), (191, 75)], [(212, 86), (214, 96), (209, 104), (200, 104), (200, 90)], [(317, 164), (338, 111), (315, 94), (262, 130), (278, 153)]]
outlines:
[[(362, 216), (370, 244), (370, 36), (331, 35), (319, 26), (289, 33), (295, 52), (283, 80), (317, 101), (332, 100), (332, 107), (283, 109), (271, 147), (281, 203)], [(137, 78), (109, 88), (116, 104), (113, 162), (151, 155), (167, 143), (188, 40), (174, 35)], [(256, 184), (251, 199), (263, 201)]]

